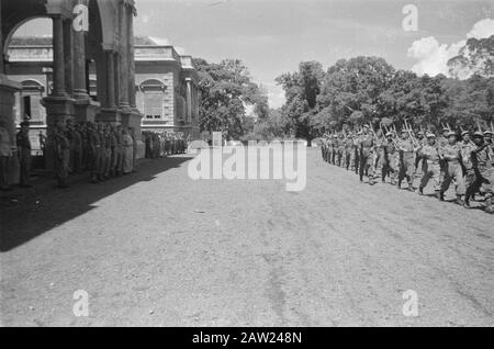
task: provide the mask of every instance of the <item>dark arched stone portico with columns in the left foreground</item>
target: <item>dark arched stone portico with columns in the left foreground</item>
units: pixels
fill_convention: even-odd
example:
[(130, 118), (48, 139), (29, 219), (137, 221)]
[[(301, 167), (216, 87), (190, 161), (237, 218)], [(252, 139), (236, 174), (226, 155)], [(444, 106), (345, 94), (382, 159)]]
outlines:
[[(134, 0), (0, 1), (0, 119), (8, 124), (12, 147), (15, 147), (14, 105), (18, 103), (18, 114), (21, 111), (32, 113), (48, 131), (69, 119), (134, 127), (137, 157), (144, 155), (144, 144), (139, 139), (143, 115), (136, 108), (134, 90), (133, 21), (136, 14)], [(9, 52), (16, 30), (36, 18), (53, 21), (53, 49), (34, 48), (46, 65), (30, 59), (25, 50)], [(11, 58), (26, 64), (32, 78), (31, 74), (15, 67)], [(99, 81), (97, 101), (88, 95), (91, 69), (97, 71)], [(20, 79), (14, 80), (15, 76)], [(41, 100), (45, 114), (40, 109), (33, 110)]]

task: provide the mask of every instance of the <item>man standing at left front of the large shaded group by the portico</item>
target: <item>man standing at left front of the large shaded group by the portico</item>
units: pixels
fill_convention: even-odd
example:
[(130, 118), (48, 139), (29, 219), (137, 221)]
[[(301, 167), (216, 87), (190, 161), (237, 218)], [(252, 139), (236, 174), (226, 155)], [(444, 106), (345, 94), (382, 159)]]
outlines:
[(59, 122), (53, 133), (54, 168), (58, 180), (58, 188), (68, 188), (67, 179), (70, 161), (70, 143), (66, 136), (65, 125)]

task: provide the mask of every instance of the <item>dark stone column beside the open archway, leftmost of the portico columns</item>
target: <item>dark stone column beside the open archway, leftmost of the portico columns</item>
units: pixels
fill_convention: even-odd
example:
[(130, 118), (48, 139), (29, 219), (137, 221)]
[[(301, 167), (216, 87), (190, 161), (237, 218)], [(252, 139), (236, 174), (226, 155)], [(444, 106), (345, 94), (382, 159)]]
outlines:
[(66, 97), (64, 64), (64, 21), (61, 15), (53, 18), (53, 92), (54, 97)]

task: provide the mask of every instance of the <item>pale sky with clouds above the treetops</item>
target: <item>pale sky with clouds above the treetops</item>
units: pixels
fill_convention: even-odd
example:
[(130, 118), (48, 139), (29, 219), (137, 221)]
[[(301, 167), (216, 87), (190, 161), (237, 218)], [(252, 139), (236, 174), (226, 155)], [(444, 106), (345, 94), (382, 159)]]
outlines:
[(447, 74), (468, 37), (494, 34), (492, 0), (136, 0), (136, 35), (209, 61), (242, 59), (272, 108), (284, 101), (274, 78), (302, 60), (327, 69), (340, 58), (380, 56), (434, 76)]

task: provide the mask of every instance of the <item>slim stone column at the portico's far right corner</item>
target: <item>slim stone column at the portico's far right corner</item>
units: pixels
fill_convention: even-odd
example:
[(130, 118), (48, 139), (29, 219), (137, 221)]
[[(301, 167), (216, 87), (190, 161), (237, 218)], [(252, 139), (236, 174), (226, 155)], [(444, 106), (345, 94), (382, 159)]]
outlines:
[(128, 109), (128, 50), (127, 50), (127, 4), (120, 4), (120, 49), (119, 49), (119, 106)]

